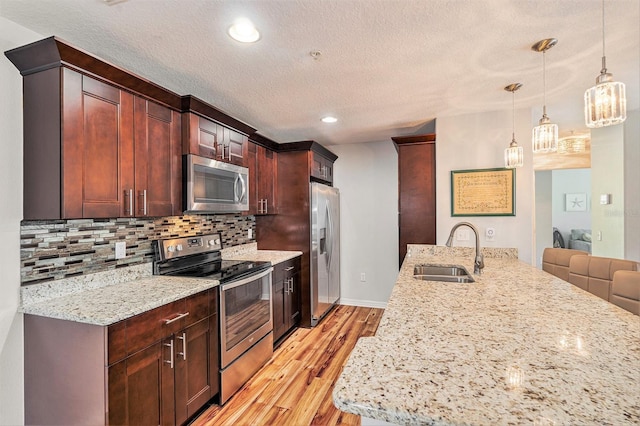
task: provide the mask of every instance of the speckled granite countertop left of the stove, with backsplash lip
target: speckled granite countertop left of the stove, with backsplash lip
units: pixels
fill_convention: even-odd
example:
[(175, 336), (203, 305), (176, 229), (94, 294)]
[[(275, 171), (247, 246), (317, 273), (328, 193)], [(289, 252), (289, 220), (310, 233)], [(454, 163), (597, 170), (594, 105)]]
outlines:
[(151, 264), (130, 268), (27, 286), (19, 311), (108, 326), (219, 285), (209, 279), (153, 276)]

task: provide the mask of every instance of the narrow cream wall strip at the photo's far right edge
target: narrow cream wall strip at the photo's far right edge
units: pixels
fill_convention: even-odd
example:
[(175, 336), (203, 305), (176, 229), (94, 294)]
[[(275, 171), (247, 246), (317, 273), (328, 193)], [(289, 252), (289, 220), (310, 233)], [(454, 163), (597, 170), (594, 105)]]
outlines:
[(640, 262), (640, 110), (624, 122), (624, 258)]

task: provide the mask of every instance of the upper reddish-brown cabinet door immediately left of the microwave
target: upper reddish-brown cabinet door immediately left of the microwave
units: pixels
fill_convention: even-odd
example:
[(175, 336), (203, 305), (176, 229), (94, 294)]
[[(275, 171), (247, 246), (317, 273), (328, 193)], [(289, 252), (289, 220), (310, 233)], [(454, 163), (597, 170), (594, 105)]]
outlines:
[(182, 213), (180, 115), (136, 97), (135, 216)]

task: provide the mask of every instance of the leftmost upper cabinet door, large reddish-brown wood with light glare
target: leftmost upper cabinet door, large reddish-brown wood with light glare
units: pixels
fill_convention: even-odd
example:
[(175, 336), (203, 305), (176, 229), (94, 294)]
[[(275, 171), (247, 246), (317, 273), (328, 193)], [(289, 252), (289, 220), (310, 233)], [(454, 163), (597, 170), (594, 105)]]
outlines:
[(62, 217), (129, 216), (133, 95), (65, 68), (62, 103)]

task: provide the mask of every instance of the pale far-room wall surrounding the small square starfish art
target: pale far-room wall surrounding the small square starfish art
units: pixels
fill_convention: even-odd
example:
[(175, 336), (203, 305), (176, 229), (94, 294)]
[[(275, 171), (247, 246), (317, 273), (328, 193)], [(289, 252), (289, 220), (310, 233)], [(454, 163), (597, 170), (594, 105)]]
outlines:
[[(569, 248), (569, 236), (572, 229), (591, 229), (592, 200), (591, 169), (553, 170), (553, 226), (558, 228), (564, 238), (565, 248)], [(583, 212), (566, 211), (567, 194), (586, 194), (586, 210)]]

